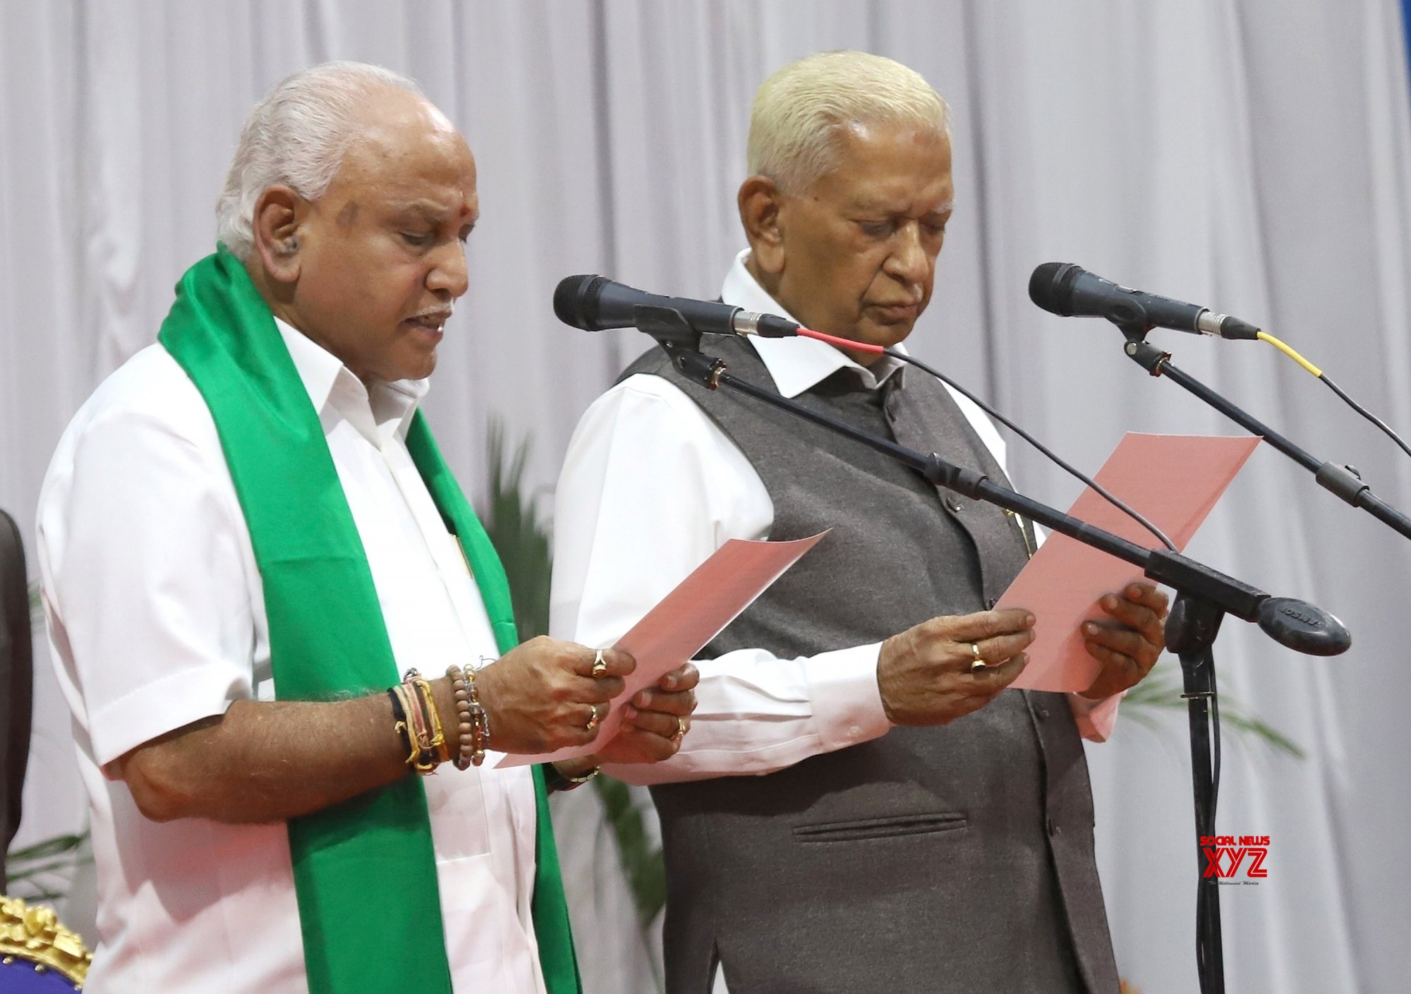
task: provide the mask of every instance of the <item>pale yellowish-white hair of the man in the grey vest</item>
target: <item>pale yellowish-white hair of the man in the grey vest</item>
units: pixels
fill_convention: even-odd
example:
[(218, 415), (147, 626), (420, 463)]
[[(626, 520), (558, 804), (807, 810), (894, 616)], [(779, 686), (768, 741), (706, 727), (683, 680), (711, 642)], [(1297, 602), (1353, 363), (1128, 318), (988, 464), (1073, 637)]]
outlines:
[(951, 112), (914, 69), (868, 52), (807, 55), (755, 92), (746, 161), (799, 195), (838, 165), (838, 136), (851, 124), (900, 124), (950, 138)]

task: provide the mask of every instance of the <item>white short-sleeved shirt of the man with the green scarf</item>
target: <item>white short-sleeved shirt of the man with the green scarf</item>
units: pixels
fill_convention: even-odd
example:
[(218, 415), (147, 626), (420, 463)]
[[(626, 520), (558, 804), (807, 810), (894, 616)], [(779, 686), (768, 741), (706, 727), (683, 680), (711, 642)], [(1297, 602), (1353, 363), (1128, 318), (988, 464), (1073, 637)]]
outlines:
[[(368, 391), (308, 337), (282, 322), (279, 332), (323, 424), (398, 671), (436, 675), (495, 658), (480, 592), (406, 452), (426, 383)], [(86, 990), (302, 994), (284, 823), (158, 825), (103, 775), (131, 748), (233, 700), (274, 696), (260, 572), (220, 439), (159, 345), (110, 376), (63, 433), (38, 539), (93, 816), (99, 945)], [(528, 767), (487, 762), (422, 782), (456, 990), (542, 994)], [(365, 914), (378, 914), (375, 894)]]

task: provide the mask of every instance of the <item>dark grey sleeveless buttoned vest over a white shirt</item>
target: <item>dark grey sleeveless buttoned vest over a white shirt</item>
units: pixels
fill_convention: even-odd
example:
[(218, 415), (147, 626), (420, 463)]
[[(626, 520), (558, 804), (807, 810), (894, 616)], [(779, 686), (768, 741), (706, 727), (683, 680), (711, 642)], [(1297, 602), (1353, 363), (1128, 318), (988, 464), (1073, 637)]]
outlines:
[[(775, 388), (739, 339), (706, 349)], [(1031, 541), (849, 439), (728, 390), (666, 377), (749, 459), (773, 539), (832, 532), (703, 652), (783, 658), (992, 607)], [(904, 384), (899, 385), (902, 373)], [(868, 390), (840, 370), (799, 402), (1006, 483), (917, 370)], [(1082, 743), (1062, 695), (1006, 690), (948, 726), (897, 727), (766, 777), (652, 789), (666, 853), (666, 986), (707, 994), (1115, 994)]]

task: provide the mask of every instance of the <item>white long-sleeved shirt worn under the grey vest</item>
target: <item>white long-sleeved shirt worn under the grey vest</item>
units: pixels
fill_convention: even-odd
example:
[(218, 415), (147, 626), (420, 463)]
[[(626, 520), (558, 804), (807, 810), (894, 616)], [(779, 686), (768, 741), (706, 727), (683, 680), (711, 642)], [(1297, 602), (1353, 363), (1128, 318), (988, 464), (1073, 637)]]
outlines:
[[(789, 318), (745, 268), (748, 254), (735, 258), (721, 299)], [(814, 339), (748, 340), (785, 397), (842, 367), (858, 370), (872, 388), (902, 374), (890, 357), (862, 367)], [(1003, 466), (1005, 442), (989, 418), (947, 390)], [(593, 402), (564, 456), (555, 496), (553, 635), (611, 645), (728, 539), (766, 538), (773, 517), (759, 473), (690, 397), (665, 377), (628, 377)], [(697, 706), (680, 751), (612, 774), (634, 784), (768, 774), (876, 738), (892, 727), (878, 689), (880, 648), (794, 659), (738, 649), (697, 661)], [(1105, 737), (1110, 721), (1103, 719), (1116, 700), (1099, 716), (1088, 702), (1070, 699), (1084, 734)]]

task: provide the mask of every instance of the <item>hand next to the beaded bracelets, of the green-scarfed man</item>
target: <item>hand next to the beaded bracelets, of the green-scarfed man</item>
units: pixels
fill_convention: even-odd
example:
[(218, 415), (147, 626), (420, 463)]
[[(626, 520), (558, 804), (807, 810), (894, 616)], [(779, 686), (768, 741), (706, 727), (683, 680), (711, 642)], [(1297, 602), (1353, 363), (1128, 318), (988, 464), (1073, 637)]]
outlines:
[[(602, 649), (607, 671), (593, 675), (594, 651), (556, 638), (531, 638), (476, 673), (499, 753), (552, 753), (597, 738), (622, 678), (636, 668), (626, 652)], [(594, 716), (597, 720), (593, 720)]]

